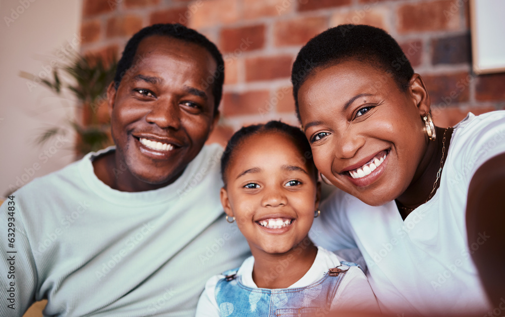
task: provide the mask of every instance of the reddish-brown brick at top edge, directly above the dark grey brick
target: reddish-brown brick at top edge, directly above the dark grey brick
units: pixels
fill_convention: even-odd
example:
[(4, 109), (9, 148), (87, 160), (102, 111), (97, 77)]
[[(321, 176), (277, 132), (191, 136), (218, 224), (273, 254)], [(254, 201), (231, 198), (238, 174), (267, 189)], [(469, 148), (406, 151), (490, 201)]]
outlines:
[(398, 32), (424, 32), (457, 30), (460, 28), (460, 14), (451, 13), (454, 0), (441, 0), (405, 4), (398, 8)]

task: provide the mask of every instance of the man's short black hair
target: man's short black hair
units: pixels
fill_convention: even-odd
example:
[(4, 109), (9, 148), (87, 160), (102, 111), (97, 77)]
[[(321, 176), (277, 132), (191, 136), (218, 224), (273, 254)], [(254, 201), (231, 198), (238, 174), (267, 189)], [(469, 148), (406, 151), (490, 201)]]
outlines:
[(218, 113), (219, 103), (223, 94), (224, 83), (224, 61), (221, 52), (219, 52), (216, 45), (211, 42), (207, 37), (198, 33), (197, 31), (187, 28), (181, 24), (153, 24), (144, 27), (135, 33), (126, 43), (123, 55), (118, 62), (118, 68), (114, 77), (114, 88), (119, 87), (121, 79), (126, 74), (128, 69), (132, 66), (135, 53), (137, 52), (138, 44), (142, 39), (152, 36), (161, 35), (173, 37), (185, 42), (195, 43), (206, 49), (216, 61), (217, 67), (214, 76), (207, 78), (207, 83), (212, 85), (212, 94), (214, 95), (214, 115)]

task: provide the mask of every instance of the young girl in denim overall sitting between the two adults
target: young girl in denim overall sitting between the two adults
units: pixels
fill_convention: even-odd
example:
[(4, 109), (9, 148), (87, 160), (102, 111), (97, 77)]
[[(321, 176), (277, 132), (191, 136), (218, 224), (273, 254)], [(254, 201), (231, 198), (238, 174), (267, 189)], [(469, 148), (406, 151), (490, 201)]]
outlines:
[(305, 135), (279, 121), (243, 127), (221, 159), (223, 204), (252, 256), (211, 278), (197, 316), (273, 316), (378, 311), (357, 264), (316, 247), (308, 233), (320, 184)]

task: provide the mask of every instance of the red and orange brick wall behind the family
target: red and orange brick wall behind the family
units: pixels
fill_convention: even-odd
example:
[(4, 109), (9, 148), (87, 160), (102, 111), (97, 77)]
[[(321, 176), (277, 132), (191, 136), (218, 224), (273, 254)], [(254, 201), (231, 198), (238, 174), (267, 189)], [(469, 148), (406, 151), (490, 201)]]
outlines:
[(84, 0), (81, 49), (119, 55), (140, 28), (173, 22), (205, 34), (225, 58), (223, 118), (212, 140), (269, 119), (297, 124), (294, 57), (311, 37), (342, 23), (381, 27), (400, 43), (425, 79), (437, 125), (453, 125), (468, 111), (505, 109), (505, 74), (471, 72), (467, 0)]

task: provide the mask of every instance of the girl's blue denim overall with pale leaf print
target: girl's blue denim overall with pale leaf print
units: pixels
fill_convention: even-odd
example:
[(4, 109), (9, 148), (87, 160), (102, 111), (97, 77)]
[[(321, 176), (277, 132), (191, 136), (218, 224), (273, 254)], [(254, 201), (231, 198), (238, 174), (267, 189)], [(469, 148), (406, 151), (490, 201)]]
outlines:
[(222, 317), (233, 316), (317, 316), (327, 315), (348, 266), (356, 263), (340, 262), (320, 280), (299, 288), (250, 288), (237, 277), (238, 269), (223, 273), (226, 278), (216, 285), (216, 301)]

